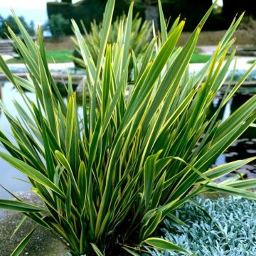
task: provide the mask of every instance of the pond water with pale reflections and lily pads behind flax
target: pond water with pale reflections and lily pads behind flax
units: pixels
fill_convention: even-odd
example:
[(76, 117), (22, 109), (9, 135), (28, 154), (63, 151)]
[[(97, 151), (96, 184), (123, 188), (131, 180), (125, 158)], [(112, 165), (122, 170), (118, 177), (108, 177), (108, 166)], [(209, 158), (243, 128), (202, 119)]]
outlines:
[[(255, 88), (252, 90), (254, 91)], [(229, 117), (229, 115), (234, 112), (240, 105), (242, 105), (246, 100), (248, 100), (253, 93), (252, 91), (242, 91), (242, 93), (239, 93), (233, 97), (230, 102), (225, 107), (225, 110), (220, 113), (220, 119), (224, 120)], [(28, 96), (31, 98), (31, 100), (35, 100), (35, 95), (33, 95), (31, 92), (27, 92)], [(21, 96), (18, 94), (16, 90), (14, 90), (13, 85), (11, 85), (10, 82), (4, 82), (3, 85), (1, 85), (1, 98), (4, 102), (4, 105), (6, 105), (7, 110), (11, 112), (11, 114), (15, 115), (16, 110), (14, 107), (14, 103), (12, 102), (13, 99), (16, 101), (22, 103), (23, 100)], [(221, 93), (219, 97), (216, 97), (215, 102), (213, 103), (213, 110), (218, 107), (220, 104), (221, 99)], [(9, 127), (9, 122), (7, 121), (4, 114), (0, 114), (0, 127), (3, 132), (6, 132), (7, 134), (11, 133), (11, 129)], [(4, 150), (4, 149), (0, 149)], [(238, 159), (244, 159), (247, 157), (255, 156), (256, 155), (256, 134), (255, 129), (249, 128), (243, 134), (238, 141), (234, 142), (232, 146), (223, 154), (220, 156), (217, 161), (216, 165), (224, 164), (229, 161), (235, 161)], [(242, 167), (242, 171), (247, 173), (247, 177), (256, 177), (256, 161), (250, 163), (250, 165), (246, 165)], [(16, 171), (12, 166), (9, 164), (6, 164), (5, 161), (0, 159), (0, 184), (7, 189), (9, 189), (12, 192), (18, 192), (18, 191), (28, 191), (31, 187), (29, 183), (21, 181), (25, 180), (27, 181), (26, 176), (23, 176), (19, 171)], [(3, 188), (0, 187), (0, 198), (9, 198), (9, 193), (4, 191)]]

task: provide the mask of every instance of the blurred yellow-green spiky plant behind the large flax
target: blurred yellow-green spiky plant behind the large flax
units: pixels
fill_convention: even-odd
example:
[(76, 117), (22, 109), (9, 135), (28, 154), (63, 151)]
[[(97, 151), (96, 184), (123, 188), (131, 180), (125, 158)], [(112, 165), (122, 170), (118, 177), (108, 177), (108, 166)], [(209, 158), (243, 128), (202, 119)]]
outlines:
[[(110, 33), (108, 36), (108, 43), (124, 43), (124, 26), (127, 23), (127, 17), (122, 16), (117, 18), (114, 23), (110, 26)], [(100, 53), (100, 42), (102, 38), (102, 23), (97, 24), (96, 21), (90, 24), (90, 32), (88, 32), (83, 26), (83, 33), (85, 33), (85, 43), (90, 52), (92, 60), (94, 63), (97, 63), (97, 57)], [(129, 50), (133, 50), (134, 54), (137, 58), (142, 58), (147, 46), (149, 46), (150, 36), (151, 36), (151, 22), (144, 21), (142, 23), (142, 18), (139, 16), (135, 16), (132, 20), (132, 31), (129, 34)], [(75, 43), (75, 50), (73, 53), (73, 60), (76, 66), (80, 68), (85, 68), (85, 63), (82, 60), (82, 55), (80, 51), (80, 46), (77, 40), (74, 40)]]

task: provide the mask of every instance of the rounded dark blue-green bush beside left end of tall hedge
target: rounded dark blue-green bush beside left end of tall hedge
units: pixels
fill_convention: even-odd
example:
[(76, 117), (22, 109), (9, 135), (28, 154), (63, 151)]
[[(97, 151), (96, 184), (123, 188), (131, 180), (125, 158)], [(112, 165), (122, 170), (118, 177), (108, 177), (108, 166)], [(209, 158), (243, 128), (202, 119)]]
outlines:
[(65, 31), (70, 23), (67, 18), (64, 18), (62, 14), (53, 14), (50, 16), (45, 28), (50, 29), (53, 38), (60, 38), (65, 36)]

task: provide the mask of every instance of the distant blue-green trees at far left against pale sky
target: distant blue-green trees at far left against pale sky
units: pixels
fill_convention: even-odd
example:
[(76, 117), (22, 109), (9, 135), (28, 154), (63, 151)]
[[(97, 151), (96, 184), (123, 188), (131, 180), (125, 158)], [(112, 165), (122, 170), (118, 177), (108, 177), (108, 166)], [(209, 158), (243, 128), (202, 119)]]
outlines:
[[(31, 23), (28, 24), (26, 23), (25, 18), (23, 16), (20, 16), (18, 18), (21, 20), (21, 23), (23, 24), (24, 28), (26, 28), (26, 31), (28, 31), (28, 33), (31, 36), (34, 36), (35, 30), (33, 21), (31, 21)], [(15, 22), (13, 16), (10, 15), (7, 18), (3, 18), (2, 16), (0, 16), (0, 38), (7, 38), (8, 29), (6, 25), (8, 25), (14, 31), (14, 33), (20, 34), (17, 23)]]

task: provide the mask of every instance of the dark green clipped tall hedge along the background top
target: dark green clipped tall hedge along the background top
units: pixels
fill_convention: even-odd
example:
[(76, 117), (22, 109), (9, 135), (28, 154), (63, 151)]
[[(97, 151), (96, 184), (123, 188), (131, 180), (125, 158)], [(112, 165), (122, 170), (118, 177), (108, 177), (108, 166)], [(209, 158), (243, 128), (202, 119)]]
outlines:
[[(247, 14), (256, 16), (256, 11), (252, 8), (251, 0), (223, 0), (223, 14), (213, 14), (208, 19), (205, 30), (222, 30), (228, 28), (230, 19), (233, 19), (237, 12), (246, 10)], [(70, 20), (74, 18), (77, 23), (82, 20), (87, 29), (90, 29), (90, 22), (96, 20), (102, 21), (102, 13), (105, 9), (106, 0), (82, 0), (76, 4), (71, 4), (70, 0), (63, 0), (62, 2), (48, 2), (47, 11), (48, 17), (53, 14), (62, 14), (64, 18)], [(186, 31), (192, 31), (193, 28), (201, 20), (202, 16), (209, 9), (212, 0), (169, 0), (163, 1), (164, 15), (169, 23), (173, 23), (174, 17), (181, 14), (181, 18), (186, 18)], [(127, 13), (129, 1), (118, 0), (114, 9), (114, 18), (123, 13)], [(134, 13), (139, 12), (140, 16), (144, 18), (145, 6), (144, 4), (136, 4), (134, 6)], [(68, 28), (65, 33), (72, 34), (71, 28)]]

